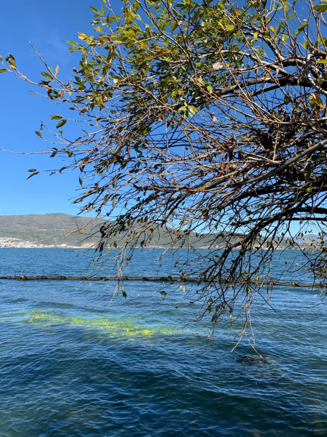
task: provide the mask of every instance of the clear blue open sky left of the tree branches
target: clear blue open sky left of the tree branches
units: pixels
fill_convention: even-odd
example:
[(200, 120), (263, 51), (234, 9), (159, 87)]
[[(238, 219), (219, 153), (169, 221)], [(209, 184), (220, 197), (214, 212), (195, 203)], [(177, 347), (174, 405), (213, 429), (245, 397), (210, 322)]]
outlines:
[[(122, 3), (119, 3), (119, 8)], [(0, 2), (0, 53), (9, 52), (17, 67), (32, 79), (40, 80), (42, 64), (29, 41), (48, 64), (59, 65), (61, 77), (68, 78), (78, 68), (79, 53), (68, 53), (65, 40), (76, 40), (77, 32), (91, 34), (93, 12), (89, 6), (101, 6), (101, 0), (16, 0)], [(117, 5), (118, 6), (118, 5)], [(35, 135), (41, 120), (60, 113), (50, 99), (30, 94), (31, 86), (10, 73), (0, 73), (0, 148), (14, 152), (33, 152), (44, 143)], [(77, 214), (69, 199), (75, 196), (77, 174), (39, 174), (27, 180), (28, 169), (48, 170), (61, 167), (59, 159), (49, 155), (17, 155), (0, 151), (0, 215)]]

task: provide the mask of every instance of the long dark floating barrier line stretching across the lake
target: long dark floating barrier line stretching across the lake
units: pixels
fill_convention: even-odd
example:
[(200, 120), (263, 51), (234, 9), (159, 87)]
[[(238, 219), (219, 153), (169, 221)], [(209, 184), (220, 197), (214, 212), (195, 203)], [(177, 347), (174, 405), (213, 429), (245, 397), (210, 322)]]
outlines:
[[(20, 280), (20, 281), (41, 281), (41, 280), (49, 280), (49, 281), (152, 281), (152, 282), (210, 282), (207, 278), (183, 278), (181, 276), (26, 276), (26, 275), (14, 275), (14, 276), (0, 276), (1, 279), (10, 279), (10, 280)], [(214, 279), (211, 282), (221, 282), (224, 283), (224, 280)], [(319, 287), (319, 288), (327, 288), (327, 284), (323, 282), (281, 282), (274, 280), (265, 280), (259, 281), (261, 284), (265, 285), (282, 285), (282, 286), (291, 286), (291, 287)], [(252, 282), (254, 283), (254, 281)]]

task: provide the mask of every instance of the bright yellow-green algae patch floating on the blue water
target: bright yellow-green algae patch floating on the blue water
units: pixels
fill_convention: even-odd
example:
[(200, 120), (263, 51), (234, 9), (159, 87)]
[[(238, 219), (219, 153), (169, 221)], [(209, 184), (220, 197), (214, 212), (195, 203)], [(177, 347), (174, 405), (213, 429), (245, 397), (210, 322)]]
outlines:
[(101, 329), (110, 332), (112, 337), (145, 337), (150, 338), (155, 335), (168, 336), (174, 335), (180, 329), (176, 326), (159, 325), (159, 326), (143, 326), (135, 323), (135, 319), (126, 318), (111, 319), (111, 318), (94, 318), (84, 319), (82, 317), (73, 317), (65, 315), (53, 315), (50, 311), (32, 311), (30, 323), (34, 325), (52, 325), (52, 324), (68, 324), (77, 325), (87, 328)]

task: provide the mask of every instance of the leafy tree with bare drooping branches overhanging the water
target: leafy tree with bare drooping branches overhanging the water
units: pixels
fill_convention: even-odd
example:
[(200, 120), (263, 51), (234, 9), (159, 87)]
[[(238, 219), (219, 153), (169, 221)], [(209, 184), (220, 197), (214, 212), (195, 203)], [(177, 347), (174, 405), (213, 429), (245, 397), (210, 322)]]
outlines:
[[(326, 277), (327, 3), (126, 0), (119, 13), (103, 3), (91, 7), (94, 35), (68, 41), (81, 52), (71, 80), (45, 60), (42, 80), (28, 79), (12, 55), (2, 71), (72, 110), (36, 134), (53, 141), (48, 130), (51, 156), (68, 158), (57, 171), (80, 170), (81, 211), (110, 218), (100, 254), (114, 237), (121, 266), (154, 232), (170, 247), (210, 235), (192, 267), (207, 282), (188, 296), (198, 318), (244, 317), (246, 328), (282, 241)], [(319, 237), (298, 240), (294, 228)]]

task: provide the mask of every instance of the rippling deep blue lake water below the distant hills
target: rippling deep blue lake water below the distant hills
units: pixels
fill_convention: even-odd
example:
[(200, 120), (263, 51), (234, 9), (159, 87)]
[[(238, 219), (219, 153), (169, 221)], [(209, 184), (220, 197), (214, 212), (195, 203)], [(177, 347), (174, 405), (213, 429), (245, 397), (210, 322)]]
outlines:
[[(79, 254), (0, 249), (0, 275), (86, 274)], [(138, 251), (126, 274), (171, 274), (159, 255)], [(294, 252), (278, 255), (275, 277), (307, 280), (283, 273)], [(115, 285), (0, 281), (0, 437), (327, 435), (320, 291), (275, 287), (274, 310), (255, 302), (255, 345), (272, 363), (251, 365), (238, 362), (253, 354), (246, 339), (231, 352), (236, 325), (203, 353), (211, 323), (186, 325), (182, 289), (162, 300), (162, 284), (129, 281), (110, 303)]]

